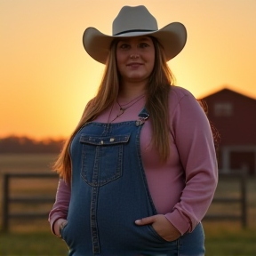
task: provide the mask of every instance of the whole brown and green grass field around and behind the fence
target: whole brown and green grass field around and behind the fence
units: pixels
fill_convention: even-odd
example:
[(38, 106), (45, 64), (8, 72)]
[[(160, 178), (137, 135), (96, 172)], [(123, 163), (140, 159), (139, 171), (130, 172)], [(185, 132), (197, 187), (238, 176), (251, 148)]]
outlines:
[[(51, 172), (49, 164), (54, 155), (0, 156), (1, 173), (4, 172)], [(247, 222), (242, 228), (239, 221), (203, 221), (206, 256), (255, 256), (256, 255), (256, 182), (247, 180)], [(11, 196), (54, 196), (58, 179), (14, 179), (11, 182)], [(2, 188), (2, 186), (1, 186)], [(217, 196), (238, 196), (236, 181), (220, 181)], [(1, 192), (2, 195), (2, 192)], [(2, 196), (1, 199), (2, 200)], [(2, 201), (0, 201), (2, 205)], [(48, 212), (52, 204), (11, 205), (11, 212)], [(2, 210), (2, 207), (1, 207)], [(239, 214), (239, 205), (212, 204), (209, 212), (233, 212)], [(0, 217), (2, 216), (0, 211)], [(2, 218), (1, 218), (2, 220)], [(1, 222), (0, 222), (1, 224)], [(0, 233), (0, 255), (2, 256), (60, 256), (68, 255), (66, 244), (51, 234), (48, 221), (11, 220), (10, 231)]]

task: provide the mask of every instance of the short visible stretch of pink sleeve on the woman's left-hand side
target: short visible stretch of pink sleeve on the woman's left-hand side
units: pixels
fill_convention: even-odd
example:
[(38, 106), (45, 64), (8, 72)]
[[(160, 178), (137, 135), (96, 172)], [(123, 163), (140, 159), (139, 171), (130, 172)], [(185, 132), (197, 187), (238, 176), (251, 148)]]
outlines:
[(57, 188), (55, 203), (52, 206), (52, 211), (49, 213), (48, 219), (50, 222), (52, 233), (54, 233), (53, 225), (56, 220), (67, 219), (70, 196), (70, 188), (64, 180), (60, 179)]

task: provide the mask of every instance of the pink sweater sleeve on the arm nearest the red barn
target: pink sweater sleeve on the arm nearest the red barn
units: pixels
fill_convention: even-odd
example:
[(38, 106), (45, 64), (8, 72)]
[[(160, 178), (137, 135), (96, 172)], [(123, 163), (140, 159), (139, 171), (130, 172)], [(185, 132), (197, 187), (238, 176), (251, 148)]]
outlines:
[(218, 167), (208, 118), (194, 96), (184, 95), (171, 115), (185, 187), (180, 202), (165, 217), (184, 234), (196, 228), (212, 203)]

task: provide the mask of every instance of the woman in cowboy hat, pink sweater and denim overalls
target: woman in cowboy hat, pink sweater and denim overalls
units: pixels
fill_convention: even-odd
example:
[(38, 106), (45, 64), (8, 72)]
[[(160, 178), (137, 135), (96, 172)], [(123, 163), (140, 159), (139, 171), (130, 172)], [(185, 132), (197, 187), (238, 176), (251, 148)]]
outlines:
[(212, 132), (166, 63), (186, 39), (178, 22), (158, 30), (144, 6), (124, 6), (113, 36), (84, 31), (86, 52), (106, 69), (54, 164), (49, 221), (69, 255), (204, 255), (200, 221), (217, 185)]

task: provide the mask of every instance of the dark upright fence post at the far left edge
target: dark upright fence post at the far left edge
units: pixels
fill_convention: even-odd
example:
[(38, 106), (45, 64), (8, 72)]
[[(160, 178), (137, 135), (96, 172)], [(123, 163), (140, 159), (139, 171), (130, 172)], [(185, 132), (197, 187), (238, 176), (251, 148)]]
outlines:
[(9, 228), (9, 174), (4, 173), (3, 180), (3, 212), (2, 212), (2, 230), (6, 232)]

